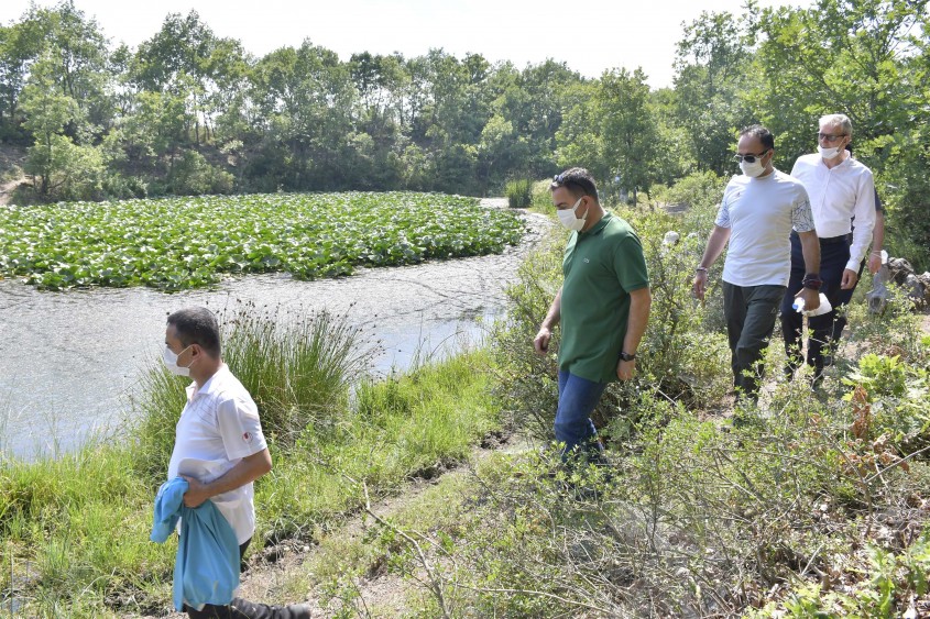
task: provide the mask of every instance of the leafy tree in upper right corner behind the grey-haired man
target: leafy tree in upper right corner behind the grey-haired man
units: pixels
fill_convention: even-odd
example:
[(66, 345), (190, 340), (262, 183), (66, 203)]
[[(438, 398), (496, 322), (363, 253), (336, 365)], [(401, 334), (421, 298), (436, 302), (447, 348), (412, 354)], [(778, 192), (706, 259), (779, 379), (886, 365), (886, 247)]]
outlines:
[(927, 263), (928, 0), (820, 0), (807, 10), (766, 10), (757, 25), (754, 92), (794, 161), (812, 151), (818, 118), (853, 122), (855, 153), (873, 168), (893, 209), (887, 229)]

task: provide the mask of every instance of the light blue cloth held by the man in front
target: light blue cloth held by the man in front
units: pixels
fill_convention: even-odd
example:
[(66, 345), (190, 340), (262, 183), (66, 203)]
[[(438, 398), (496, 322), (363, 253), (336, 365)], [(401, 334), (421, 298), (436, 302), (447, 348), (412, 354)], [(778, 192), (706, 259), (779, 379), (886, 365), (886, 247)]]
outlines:
[(155, 497), (150, 539), (168, 539), (180, 518), (180, 539), (174, 563), (174, 607), (184, 604), (200, 609), (205, 604), (227, 605), (239, 586), (239, 543), (232, 527), (217, 506), (207, 500), (194, 509), (185, 507), (188, 484), (183, 477), (168, 479)]

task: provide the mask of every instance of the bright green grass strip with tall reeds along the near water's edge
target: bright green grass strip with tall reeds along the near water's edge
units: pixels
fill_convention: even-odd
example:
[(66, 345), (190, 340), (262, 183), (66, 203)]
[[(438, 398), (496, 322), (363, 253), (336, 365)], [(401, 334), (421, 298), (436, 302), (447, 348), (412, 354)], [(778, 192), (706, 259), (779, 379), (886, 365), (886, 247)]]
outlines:
[[(223, 329), (228, 363), (260, 406), (275, 462), (256, 483), (256, 550), (313, 540), (359, 509), (361, 483), (376, 497), (436, 475), (499, 423), (486, 351), (357, 382), (371, 347), (338, 317), (287, 320), (247, 307)], [(0, 608), (50, 618), (169, 608), (176, 545), (149, 542), (149, 531), (183, 386), (154, 366), (136, 400), (144, 417), (122, 441), (2, 463), (0, 590), (12, 594)]]

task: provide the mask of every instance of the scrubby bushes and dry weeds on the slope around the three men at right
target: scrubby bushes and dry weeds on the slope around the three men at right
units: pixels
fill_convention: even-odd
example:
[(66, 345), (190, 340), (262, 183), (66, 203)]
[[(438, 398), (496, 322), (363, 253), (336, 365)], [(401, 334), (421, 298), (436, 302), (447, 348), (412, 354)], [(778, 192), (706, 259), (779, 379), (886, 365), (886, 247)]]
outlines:
[[(598, 411), (610, 465), (491, 457), (335, 535), (293, 587), (339, 617), (917, 617), (930, 611), (930, 335), (906, 295), (866, 312), (816, 393), (780, 379), (770, 347), (758, 406), (734, 407), (719, 285), (690, 298), (713, 179), (681, 217), (626, 212), (654, 278), (639, 378)], [(682, 241), (661, 243), (676, 230)], [(688, 233), (694, 232), (694, 237)], [(527, 342), (558, 288), (561, 239), (527, 259), (492, 341), (495, 394), (516, 428), (550, 438), (555, 358)], [(720, 265), (718, 265), (718, 268)], [(719, 270), (714, 274), (719, 283)], [(776, 332), (775, 341), (778, 342)], [(740, 423), (734, 423), (734, 417)], [(371, 578), (405, 600), (372, 608)]]

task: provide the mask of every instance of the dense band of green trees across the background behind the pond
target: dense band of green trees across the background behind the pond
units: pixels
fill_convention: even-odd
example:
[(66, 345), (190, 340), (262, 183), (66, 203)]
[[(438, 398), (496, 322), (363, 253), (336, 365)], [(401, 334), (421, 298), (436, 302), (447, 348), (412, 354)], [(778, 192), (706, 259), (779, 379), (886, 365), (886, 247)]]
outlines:
[[(111, 48), (64, 0), (0, 26), (0, 141), (29, 148), (32, 199), (324, 189), (484, 195), (584, 165), (612, 196), (729, 175), (738, 129), (777, 159), (846, 113), (891, 219), (930, 245), (930, 0), (818, 0), (682, 24), (672, 88), (442, 49), (340, 59), (309, 40), (256, 58), (192, 11)], [(28, 195), (23, 197), (29, 198)], [(897, 218), (897, 219), (895, 219)]]

